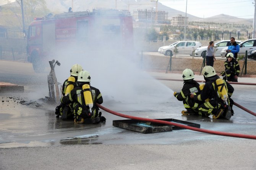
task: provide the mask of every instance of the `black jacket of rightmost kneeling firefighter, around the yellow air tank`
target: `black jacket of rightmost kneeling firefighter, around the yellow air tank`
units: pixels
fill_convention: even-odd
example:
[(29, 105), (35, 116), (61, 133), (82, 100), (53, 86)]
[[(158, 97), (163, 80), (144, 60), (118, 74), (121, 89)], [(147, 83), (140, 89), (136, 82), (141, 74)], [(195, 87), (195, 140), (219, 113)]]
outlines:
[[(195, 95), (194, 100), (196, 101), (205, 101), (206, 99), (217, 99), (218, 101), (222, 100), (220, 96), (217, 94), (217, 87), (215, 87), (215, 81), (219, 79), (219, 76), (215, 75), (214, 79), (206, 80), (203, 90), (200, 95)], [(230, 98), (233, 94), (234, 88), (228, 82), (224, 81), (225, 88), (228, 93), (228, 97)]]

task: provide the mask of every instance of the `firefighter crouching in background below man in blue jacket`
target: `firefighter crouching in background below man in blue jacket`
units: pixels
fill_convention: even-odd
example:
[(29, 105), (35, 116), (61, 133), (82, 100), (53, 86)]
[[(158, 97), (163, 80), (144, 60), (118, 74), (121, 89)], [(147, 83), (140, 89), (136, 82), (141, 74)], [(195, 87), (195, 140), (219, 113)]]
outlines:
[(227, 54), (227, 60), (224, 62), (225, 71), (221, 73), (224, 80), (228, 82), (238, 82), (240, 74), (240, 66), (237, 60), (234, 59), (233, 53)]

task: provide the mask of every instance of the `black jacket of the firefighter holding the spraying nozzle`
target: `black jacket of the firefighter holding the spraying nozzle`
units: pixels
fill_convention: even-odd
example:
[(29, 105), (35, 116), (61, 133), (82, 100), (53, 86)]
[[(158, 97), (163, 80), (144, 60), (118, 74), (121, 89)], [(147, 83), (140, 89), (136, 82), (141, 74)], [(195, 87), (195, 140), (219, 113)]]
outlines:
[(200, 92), (199, 90), (199, 83), (195, 80), (185, 81), (180, 93), (178, 93), (178, 95), (175, 97), (179, 101), (183, 101), (184, 103), (188, 104), (193, 109), (196, 102), (190, 98), (190, 94), (193, 93), (194, 95), (197, 95)]

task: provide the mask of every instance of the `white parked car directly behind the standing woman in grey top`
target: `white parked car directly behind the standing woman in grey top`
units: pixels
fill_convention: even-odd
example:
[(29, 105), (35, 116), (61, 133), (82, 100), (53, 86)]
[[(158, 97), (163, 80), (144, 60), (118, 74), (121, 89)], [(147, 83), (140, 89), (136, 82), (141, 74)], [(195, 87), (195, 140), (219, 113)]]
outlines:
[[(241, 41), (236, 41), (238, 44), (241, 43)], [(220, 57), (220, 52), (222, 51), (223, 48), (227, 48), (228, 46), (231, 45), (231, 42), (230, 40), (223, 40), (223, 41), (219, 41), (219, 42), (216, 42), (214, 44), (214, 51), (215, 51), (215, 54), (214, 56), (215, 57)], [(196, 49), (196, 51), (194, 51), (195, 55), (194, 56), (204, 56), (206, 55), (206, 50), (207, 50), (207, 47), (208, 46), (204, 46), (204, 47), (199, 47)]]

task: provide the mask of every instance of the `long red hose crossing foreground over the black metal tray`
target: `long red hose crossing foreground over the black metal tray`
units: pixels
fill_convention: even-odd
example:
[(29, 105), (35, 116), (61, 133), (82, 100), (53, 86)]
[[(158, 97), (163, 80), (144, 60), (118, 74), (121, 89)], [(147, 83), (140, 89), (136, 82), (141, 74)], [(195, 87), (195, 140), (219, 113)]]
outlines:
[(214, 134), (214, 135), (231, 136), (231, 137), (247, 138), (247, 139), (256, 139), (256, 135), (245, 135), (245, 134), (238, 134), (238, 133), (219, 132), (219, 131), (213, 131), (213, 130), (190, 127), (190, 126), (182, 125), (182, 124), (179, 124), (179, 123), (167, 122), (167, 121), (164, 121), (164, 120), (156, 120), (156, 119), (147, 119), (147, 118), (142, 118), (142, 117), (135, 117), (135, 116), (125, 115), (125, 114), (121, 114), (121, 113), (112, 111), (112, 110), (107, 109), (106, 107), (103, 107), (103, 106), (101, 106), (100, 104), (97, 104), (97, 103), (96, 103), (96, 105), (100, 109), (102, 109), (106, 112), (109, 112), (111, 114), (114, 114), (114, 115), (117, 115), (117, 116), (120, 116), (120, 117), (125, 117), (127, 119), (134, 119), (134, 120), (141, 120), (141, 121), (145, 121), (145, 122), (154, 122), (154, 123), (172, 125), (172, 126), (177, 126), (177, 127), (189, 129), (189, 130), (194, 130), (194, 131), (197, 131), (197, 132), (209, 133), (209, 134)]

